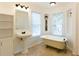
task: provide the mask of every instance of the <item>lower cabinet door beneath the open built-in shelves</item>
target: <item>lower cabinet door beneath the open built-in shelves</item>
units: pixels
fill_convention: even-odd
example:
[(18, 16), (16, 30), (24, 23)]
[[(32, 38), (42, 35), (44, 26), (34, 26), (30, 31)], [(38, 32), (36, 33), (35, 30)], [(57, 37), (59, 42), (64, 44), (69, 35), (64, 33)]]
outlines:
[(1, 55), (2, 56), (13, 55), (13, 40), (11, 38), (1, 39)]

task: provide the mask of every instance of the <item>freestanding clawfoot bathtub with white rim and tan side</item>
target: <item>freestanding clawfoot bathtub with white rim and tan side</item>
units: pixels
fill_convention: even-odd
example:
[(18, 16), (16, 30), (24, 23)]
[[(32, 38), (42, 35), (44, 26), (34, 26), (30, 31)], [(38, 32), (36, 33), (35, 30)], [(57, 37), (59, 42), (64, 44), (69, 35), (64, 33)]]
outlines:
[(43, 39), (43, 42), (45, 45), (48, 45), (57, 49), (64, 49), (66, 46), (65, 42), (67, 41), (67, 39), (65, 37), (43, 35), (41, 36), (41, 38)]

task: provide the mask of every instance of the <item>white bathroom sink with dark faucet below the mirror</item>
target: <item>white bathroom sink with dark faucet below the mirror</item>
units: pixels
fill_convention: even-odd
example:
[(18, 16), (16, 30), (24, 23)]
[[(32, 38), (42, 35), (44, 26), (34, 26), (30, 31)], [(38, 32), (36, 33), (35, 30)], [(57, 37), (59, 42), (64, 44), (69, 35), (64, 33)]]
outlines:
[(27, 30), (16, 30), (16, 37), (18, 38), (24, 39), (30, 36), (31, 36), (31, 33)]

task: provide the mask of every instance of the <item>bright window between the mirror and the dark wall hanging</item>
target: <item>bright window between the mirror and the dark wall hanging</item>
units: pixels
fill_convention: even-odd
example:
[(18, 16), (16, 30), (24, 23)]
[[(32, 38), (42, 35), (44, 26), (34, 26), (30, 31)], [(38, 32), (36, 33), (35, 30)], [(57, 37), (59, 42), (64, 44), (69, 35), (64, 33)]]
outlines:
[(40, 35), (40, 14), (32, 12), (32, 36)]

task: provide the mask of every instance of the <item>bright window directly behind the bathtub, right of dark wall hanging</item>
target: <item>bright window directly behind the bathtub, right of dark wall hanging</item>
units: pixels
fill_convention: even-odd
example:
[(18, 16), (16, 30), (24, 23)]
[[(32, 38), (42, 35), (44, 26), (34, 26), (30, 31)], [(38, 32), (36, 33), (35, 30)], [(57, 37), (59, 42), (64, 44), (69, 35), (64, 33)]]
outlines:
[(63, 13), (57, 13), (53, 15), (53, 35), (63, 35), (63, 21), (64, 21), (64, 14)]

